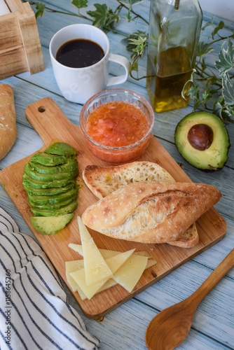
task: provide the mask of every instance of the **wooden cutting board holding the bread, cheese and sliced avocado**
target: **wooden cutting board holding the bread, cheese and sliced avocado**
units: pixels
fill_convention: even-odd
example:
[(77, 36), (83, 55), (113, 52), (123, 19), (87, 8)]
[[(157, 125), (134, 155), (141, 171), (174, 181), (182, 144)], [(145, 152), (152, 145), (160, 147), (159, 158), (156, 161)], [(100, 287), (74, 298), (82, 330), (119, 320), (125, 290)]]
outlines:
[[(43, 147), (39, 151), (43, 151), (52, 141), (57, 140), (70, 144), (76, 148), (78, 152), (78, 181), (82, 186), (78, 193), (78, 208), (74, 212), (74, 218), (69, 225), (56, 235), (41, 235), (41, 233), (33, 228), (31, 223), (30, 217), (32, 213), (29, 209), (26, 192), (22, 187), (22, 173), (25, 164), (32, 155), (6, 167), (0, 172), (1, 185), (8, 193), (9, 197), (11, 197), (15, 207), (20, 211), (20, 214), (25, 219), (27, 225), (29, 225), (29, 228), (48, 255), (48, 258), (50, 258), (57, 272), (64, 282), (67, 283), (65, 261), (81, 259), (78, 253), (72, 251), (71, 248), (68, 247), (69, 243), (81, 244), (76, 216), (81, 216), (83, 211), (90, 204), (97, 201), (97, 198), (90, 193), (90, 190), (88, 190), (85, 183), (83, 183), (82, 172), (87, 165), (106, 165), (106, 163), (98, 160), (90, 153), (85, 144), (81, 127), (71, 123), (67, 117), (64, 116), (64, 113), (62, 113), (53, 99), (41, 99), (31, 104), (27, 107), (25, 113), (27, 120), (29, 120), (29, 123), (34, 127), (34, 130), (43, 141)], [(176, 181), (191, 182), (177, 162), (173, 160), (153, 135), (149, 148), (147, 148), (146, 152), (139, 160), (148, 160), (158, 163), (164, 167), (167, 172), (170, 172)], [(98, 248), (106, 248), (115, 251), (126, 251), (131, 248), (136, 248), (136, 251), (149, 251), (152, 258), (157, 260), (158, 263), (144, 272), (137, 286), (132, 290), (132, 293), (128, 293), (121, 286), (114, 286), (109, 290), (95, 295), (91, 300), (82, 301), (78, 293), (73, 293), (71, 291), (83, 310), (83, 313), (90, 318), (104, 316), (109, 311), (118, 307), (118, 305), (123, 304), (123, 302), (137, 295), (137, 293), (151, 286), (167, 274), (170, 274), (170, 272), (180, 265), (191, 260), (195, 255), (198, 255), (213, 244), (216, 244), (226, 233), (226, 222), (214, 207), (199, 218), (197, 227), (200, 242), (194, 248), (178, 248), (176, 246), (170, 246), (169, 244), (141, 244), (123, 241), (112, 239), (98, 232), (89, 230)]]

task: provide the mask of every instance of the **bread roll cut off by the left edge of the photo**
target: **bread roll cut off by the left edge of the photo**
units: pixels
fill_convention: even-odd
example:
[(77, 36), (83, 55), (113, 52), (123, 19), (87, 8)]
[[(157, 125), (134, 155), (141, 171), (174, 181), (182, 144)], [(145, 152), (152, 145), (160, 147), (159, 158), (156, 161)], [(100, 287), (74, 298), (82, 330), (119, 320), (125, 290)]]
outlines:
[(0, 160), (11, 150), (17, 137), (13, 88), (0, 84)]

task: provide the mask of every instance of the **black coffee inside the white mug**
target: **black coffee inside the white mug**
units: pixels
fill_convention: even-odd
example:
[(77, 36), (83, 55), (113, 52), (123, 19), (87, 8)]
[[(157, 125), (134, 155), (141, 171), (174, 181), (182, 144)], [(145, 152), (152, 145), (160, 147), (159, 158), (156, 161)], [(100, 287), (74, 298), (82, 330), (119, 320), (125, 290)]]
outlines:
[(64, 66), (83, 68), (92, 66), (104, 57), (104, 51), (94, 41), (74, 39), (62, 44), (57, 50), (55, 59)]

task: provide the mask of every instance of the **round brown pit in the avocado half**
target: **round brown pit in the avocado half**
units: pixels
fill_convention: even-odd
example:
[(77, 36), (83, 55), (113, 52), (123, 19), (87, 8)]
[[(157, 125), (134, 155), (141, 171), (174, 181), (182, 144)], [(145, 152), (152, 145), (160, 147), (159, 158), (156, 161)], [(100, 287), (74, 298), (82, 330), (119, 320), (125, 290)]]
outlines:
[(205, 151), (211, 146), (214, 132), (207, 124), (196, 124), (188, 131), (188, 142), (198, 151)]

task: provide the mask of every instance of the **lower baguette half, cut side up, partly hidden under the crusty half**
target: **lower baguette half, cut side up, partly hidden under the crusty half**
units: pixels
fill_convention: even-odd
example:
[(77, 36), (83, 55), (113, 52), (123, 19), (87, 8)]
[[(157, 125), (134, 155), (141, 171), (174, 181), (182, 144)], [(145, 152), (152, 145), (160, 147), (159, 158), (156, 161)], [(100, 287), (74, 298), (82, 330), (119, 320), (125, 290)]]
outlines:
[[(88, 165), (83, 170), (83, 180), (99, 199), (129, 183), (139, 181), (175, 182), (165, 169), (153, 162), (132, 162), (111, 167)], [(177, 241), (167, 243), (182, 248), (191, 248), (198, 244), (198, 241), (198, 230), (195, 223), (193, 223)]]

